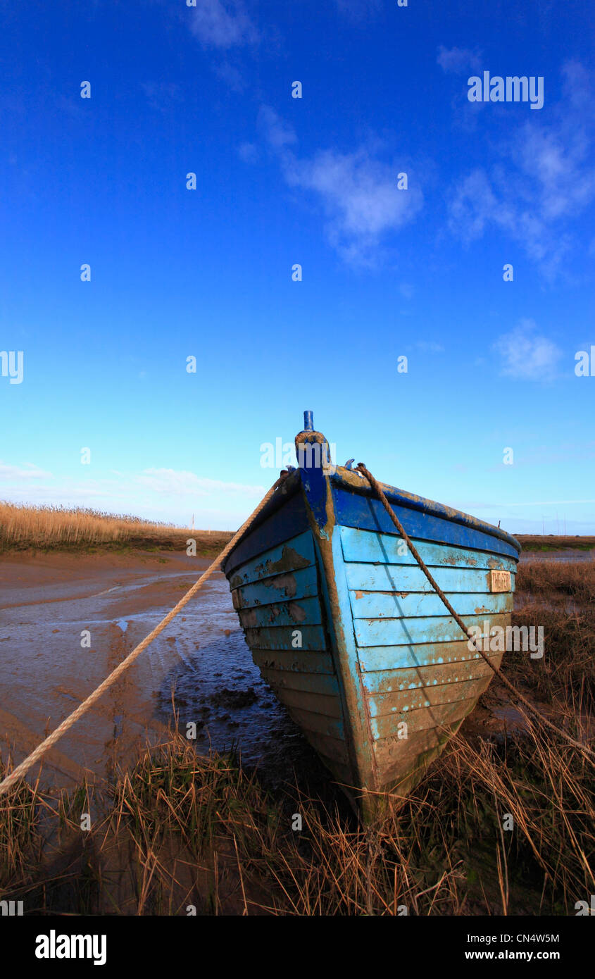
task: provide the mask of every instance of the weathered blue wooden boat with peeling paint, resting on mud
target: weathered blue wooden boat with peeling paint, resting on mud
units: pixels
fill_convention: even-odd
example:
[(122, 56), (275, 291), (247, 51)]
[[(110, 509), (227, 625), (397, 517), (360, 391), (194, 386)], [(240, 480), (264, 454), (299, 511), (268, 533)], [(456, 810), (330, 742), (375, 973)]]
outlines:
[[(298, 467), (223, 570), (262, 676), (371, 818), (417, 784), (493, 674), (352, 460), (332, 465), (311, 412), (296, 443)], [(466, 625), (509, 626), (518, 541), (381, 486)]]

